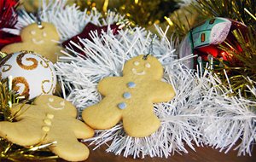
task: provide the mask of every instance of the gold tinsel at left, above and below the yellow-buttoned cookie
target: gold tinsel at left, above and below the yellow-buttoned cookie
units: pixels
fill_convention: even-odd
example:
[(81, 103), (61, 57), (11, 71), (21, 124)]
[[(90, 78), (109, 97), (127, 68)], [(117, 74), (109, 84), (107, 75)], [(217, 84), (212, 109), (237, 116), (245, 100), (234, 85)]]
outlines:
[[(11, 79), (3, 79), (0, 82), (0, 122), (15, 122), (15, 115), (12, 115), (13, 104), (20, 103), (20, 95), (16, 95), (11, 89)], [(25, 102), (26, 101), (22, 101)], [(22, 107), (22, 106), (21, 106)], [(9, 159), (12, 161), (27, 161), (36, 159), (56, 159), (58, 158), (48, 149), (52, 143), (35, 146), (21, 147), (9, 142), (6, 138), (0, 137), (0, 161)]]

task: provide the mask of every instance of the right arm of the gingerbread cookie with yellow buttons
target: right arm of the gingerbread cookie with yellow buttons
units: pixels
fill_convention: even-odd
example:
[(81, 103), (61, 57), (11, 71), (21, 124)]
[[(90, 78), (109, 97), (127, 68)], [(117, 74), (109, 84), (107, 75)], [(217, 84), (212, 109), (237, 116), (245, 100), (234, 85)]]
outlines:
[(75, 136), (79, 139), (90, 138), (94, 135), (93, 129), (77, 119), (73, 119), (72, 128)]

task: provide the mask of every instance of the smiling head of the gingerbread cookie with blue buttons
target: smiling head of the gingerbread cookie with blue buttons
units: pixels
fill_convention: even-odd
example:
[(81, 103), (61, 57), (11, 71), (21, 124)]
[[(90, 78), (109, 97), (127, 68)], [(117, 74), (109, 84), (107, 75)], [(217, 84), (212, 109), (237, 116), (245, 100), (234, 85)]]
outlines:
[(160, 79), (163, 76), (163, 68), (160, 62), (153, 56), (138, 55), (125, 63), (123, 75), (130, 75), (134, 78)]

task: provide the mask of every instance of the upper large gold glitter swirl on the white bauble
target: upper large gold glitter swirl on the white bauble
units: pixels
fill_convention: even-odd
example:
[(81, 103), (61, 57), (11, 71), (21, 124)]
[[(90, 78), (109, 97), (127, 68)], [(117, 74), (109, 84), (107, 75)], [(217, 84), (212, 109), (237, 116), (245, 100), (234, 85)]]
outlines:
[(26, 51), (22, 51), (20, 53), (20, 55), (17, 56), (17, 58), (16, 58), (17, 64), (25, 70), (33, 70), (33, 69), (37, 68), (38, 67), (38, 61), (35, 58), (26, 58), (26, 61), (32, 61), (33, 62), (33, 64), (31, 66), (26, 66), (25, 64), (22, 63), (22, 59), (25, 55), (27, 55)]

